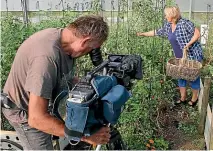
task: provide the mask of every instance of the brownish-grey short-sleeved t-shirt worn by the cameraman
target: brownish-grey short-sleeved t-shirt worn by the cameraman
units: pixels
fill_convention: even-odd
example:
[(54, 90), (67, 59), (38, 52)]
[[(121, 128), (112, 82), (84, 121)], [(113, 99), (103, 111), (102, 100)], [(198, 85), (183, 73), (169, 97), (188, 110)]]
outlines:
[(19, 108), (28, 110), (30, 93), (52, 101), (67, 88), (65, 79), (72, 78), (74, 59), (61, 48), (61, 31), (39, 31), (19, 47), (4, 87)]

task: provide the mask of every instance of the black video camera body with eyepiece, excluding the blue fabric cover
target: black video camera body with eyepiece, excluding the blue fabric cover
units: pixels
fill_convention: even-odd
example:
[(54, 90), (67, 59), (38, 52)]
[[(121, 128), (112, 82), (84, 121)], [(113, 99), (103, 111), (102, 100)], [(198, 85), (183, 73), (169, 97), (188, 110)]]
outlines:
[[(94, 52), (95, 51), (95, 52)], [(90, 53), (93, 65), (96, 66), (88, 72), (70, 92), (75, 102), (86, 102), (95, 94), (91, 80), (97, 76), (114, 76), (117, 83), (131, 90), (132, 80), (142, 79), (142, 58), (139, 55), (109, 55), (103, 61), (100, 49)]]

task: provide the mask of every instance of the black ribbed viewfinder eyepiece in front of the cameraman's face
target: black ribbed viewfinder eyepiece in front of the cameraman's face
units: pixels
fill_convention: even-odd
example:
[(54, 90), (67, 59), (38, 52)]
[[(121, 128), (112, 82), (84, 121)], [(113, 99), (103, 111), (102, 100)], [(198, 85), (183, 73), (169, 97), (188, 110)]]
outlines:
[(98, 66), (103, 62), (102, 54), (101, 54), (101, 49), (95, 48), (90, 52), (90, 58), (92, 60), (92, 64), (94, 66)]

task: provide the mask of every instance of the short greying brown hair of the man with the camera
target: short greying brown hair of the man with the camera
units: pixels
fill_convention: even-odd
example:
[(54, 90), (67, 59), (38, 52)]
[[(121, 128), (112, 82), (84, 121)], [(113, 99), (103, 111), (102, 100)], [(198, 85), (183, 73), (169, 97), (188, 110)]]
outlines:
[[(92, 41), (104, 42), (109, 33), (109, 27), (103, 17), (98, 15), (85, 15), (72, 22), (68, 29), (74, 31), (77, 37), (90, 36)], [(74, 29), (74, 30), (73, 30)]]

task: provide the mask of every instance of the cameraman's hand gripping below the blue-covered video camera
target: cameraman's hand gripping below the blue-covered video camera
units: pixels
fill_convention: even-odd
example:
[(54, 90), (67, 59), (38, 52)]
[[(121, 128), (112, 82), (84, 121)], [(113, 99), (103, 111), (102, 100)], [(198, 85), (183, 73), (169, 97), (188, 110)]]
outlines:
[(89, 137), (82, 137), (81, 141), (87, 142), (92, 145), (107, 144), (110, 139), (110, 128), (102, 127), (99, 131)]

